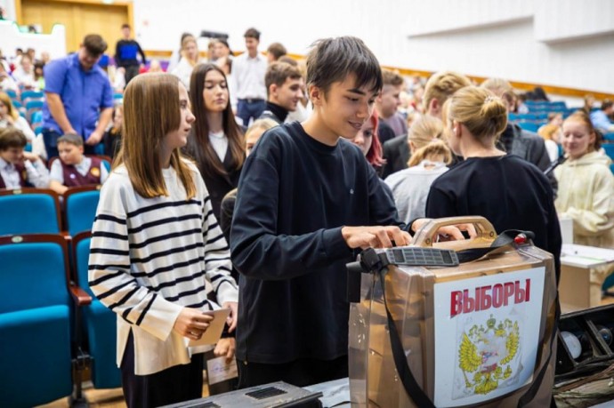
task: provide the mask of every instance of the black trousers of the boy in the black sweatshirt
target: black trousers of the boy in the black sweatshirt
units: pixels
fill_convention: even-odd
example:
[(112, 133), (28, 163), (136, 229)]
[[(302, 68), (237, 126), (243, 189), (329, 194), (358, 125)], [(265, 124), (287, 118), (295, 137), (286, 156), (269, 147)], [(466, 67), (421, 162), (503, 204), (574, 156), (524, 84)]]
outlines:
[(335, 360), (302, 358), (286, 364), (260, 364), (237, 360), (238, 388), (249, 388), (275, 381), (297, 387), (343, 379), (348, 376), (348, 356)]

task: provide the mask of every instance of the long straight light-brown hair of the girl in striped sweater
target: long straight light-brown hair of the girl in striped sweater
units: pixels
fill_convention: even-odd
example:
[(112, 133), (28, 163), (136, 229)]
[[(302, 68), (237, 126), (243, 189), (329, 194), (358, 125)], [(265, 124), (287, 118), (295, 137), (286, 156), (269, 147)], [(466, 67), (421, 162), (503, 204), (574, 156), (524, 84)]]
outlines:
[[(142, 74), (126, 86), (122, 146), (113, 167), (125, 164), (134, 191), (140, 196), (168, 196), (160, 150), (166, 135), (179, 129), (180, 124), (179, 78)], [(171, 155), (171, 166), (179, 175), (187, 198), (195, 196), (192, 172), (179, 148)]]

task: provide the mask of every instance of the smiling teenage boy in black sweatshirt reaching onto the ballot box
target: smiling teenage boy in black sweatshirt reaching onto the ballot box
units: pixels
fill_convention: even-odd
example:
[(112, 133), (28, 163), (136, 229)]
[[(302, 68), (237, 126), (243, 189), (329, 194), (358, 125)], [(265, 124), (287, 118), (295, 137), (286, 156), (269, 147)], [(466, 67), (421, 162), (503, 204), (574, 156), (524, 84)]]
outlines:
[(376, 57), (358, 38), (321, 40), (307, 85), (310, 118), (264, 133), (238, 184), (230, 250), (241, 274), (239, 388), (347, 376), (345, 264), (354, 249), (409, 242), (376, 172), (347, 140), (382, 89)]

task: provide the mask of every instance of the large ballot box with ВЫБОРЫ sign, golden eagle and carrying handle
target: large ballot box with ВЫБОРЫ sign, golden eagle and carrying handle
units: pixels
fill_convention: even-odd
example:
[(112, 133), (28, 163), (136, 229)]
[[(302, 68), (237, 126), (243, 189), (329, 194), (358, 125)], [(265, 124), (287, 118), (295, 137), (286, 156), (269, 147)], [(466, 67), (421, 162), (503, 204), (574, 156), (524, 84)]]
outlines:
[[(467, 222), (475, 239), (432, 244), (441, 226)], [(496, 238), (481, 217), (432, 220), (408, 247), (371, 250), (379, 270), (360, 260), (372, 273), (362, 274), (351, 306), (352, 406), (549, 406), (553, 256), (513, 238), (481, 256), (505, 242)], [(457, 263), (472, 254), (478, 259)], [(436, 264), (448, 266), (424, 266)]]

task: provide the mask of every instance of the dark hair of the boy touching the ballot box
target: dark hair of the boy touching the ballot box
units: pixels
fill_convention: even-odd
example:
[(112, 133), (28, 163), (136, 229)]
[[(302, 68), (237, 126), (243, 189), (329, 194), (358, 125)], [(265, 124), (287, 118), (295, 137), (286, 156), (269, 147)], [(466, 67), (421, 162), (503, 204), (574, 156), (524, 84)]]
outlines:
[(307, 56), (307, 85), (315, 85), (326, 93), (333, 83), (343, 82), (354, 74), (356, 88), (371, 85), (373, 92), (382, 90), (382, 68), (360, 38), (325, 38), (312, 47)]

